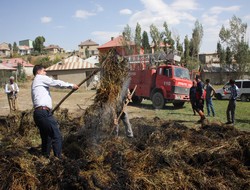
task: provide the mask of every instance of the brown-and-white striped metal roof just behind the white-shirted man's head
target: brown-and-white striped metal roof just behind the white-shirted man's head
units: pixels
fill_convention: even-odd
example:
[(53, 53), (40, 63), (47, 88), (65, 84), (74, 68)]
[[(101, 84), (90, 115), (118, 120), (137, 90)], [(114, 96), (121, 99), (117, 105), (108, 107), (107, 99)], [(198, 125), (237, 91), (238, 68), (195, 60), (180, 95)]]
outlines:
[(96, 68), (93, 64), (83, 60), (78, 56), (71, 56), (64, 59), (61, 62), (56, 63), (46, 69), (46, 71), (58, 71), (58, 70), (76, 70), (76, 69), (90, 69)]

